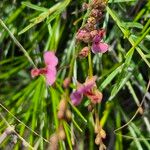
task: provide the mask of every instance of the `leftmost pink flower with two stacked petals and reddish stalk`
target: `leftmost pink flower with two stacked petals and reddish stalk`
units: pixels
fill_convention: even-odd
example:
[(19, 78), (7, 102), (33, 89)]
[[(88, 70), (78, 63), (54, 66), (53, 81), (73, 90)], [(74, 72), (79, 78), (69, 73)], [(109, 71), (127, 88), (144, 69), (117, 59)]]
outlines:
[(52, 85), (56, 80), (58, 58), (55, 56), (54, 52), (47, 51), (44, 53), (44, 62), (46, 65), (45, 68), (32, 69), (31, 76), (34, 78), (43, 74), (46, 77), (46, 83)]

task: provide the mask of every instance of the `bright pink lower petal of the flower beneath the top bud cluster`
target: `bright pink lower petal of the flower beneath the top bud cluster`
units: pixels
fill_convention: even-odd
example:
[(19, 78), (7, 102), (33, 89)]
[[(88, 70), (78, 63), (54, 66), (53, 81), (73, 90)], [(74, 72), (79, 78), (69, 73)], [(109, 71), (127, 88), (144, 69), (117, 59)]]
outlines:
[(109, 48), (109, 46), (106, 43), (99, 42), (99, 43), (92, 44), (92, 52), (93, 53), (105, 53), (108, 51), (108, 48)]

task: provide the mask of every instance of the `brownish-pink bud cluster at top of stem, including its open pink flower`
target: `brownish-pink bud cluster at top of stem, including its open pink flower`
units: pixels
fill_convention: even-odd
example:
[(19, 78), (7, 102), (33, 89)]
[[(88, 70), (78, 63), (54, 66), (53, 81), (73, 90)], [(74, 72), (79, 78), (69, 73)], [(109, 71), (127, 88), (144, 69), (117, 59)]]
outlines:
[[(83, 43), (91, 43), (91, 49), (93, 53), (105, 53), (108, 51), (108, 44), (104, 43), (103, 37), (105, 30), (98, 28), (98, 23), (103, 16), (105, 9), (105, 2), (102, 0), (93, 0), (90, 4), (87, 4), (87, 8), (90, 9), (90, 14), (86, 24), (80, 28), (76, 34), (77, 41)], [(87, 48), (86, 48), (87, 50)], [(80, 56), (86, 57), (88, 51), (85, 54), (85, 48), (79, 53)]]

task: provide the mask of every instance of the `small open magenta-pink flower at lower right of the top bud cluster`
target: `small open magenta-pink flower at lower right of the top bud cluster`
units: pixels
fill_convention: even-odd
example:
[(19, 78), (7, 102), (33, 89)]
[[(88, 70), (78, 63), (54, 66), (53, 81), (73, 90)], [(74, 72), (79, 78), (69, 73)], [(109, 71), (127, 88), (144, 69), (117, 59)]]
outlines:
[(105, 53), (108, 51), (108, 44), (101, 42), (101, 36), (96, 35), (93, 38), (93, 44), (92, 44), (92, 52), (93, 53)]

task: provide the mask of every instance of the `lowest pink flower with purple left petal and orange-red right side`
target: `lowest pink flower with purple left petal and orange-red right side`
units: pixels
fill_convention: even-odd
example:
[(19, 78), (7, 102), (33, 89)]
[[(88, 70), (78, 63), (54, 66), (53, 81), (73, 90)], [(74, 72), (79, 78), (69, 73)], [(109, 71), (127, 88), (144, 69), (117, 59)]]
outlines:
[(83, 96), (88, 97), (94, 104), (101, 102), (102, 93), (96, 88), (96, 78), (96, 76), (93, 76), (92, 78), (87, 78), (83, 84), (78, 83), (77, 90), (70, 96), (74, 105), (79, 105)]

